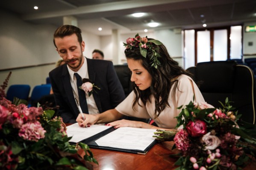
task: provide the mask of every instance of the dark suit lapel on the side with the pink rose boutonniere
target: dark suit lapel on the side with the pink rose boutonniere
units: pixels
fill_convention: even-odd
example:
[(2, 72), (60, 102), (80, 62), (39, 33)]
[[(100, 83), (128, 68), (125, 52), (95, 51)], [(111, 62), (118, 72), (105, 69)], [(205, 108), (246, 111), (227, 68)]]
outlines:
[[(92, 83), (95, 83), (95, 85), (97, 85), (96, 72), (94, 70), (94, 62), (92, 61), (92, 59), (86, 58), (86, 60), (87, 60), (89, 79), (92, 81)], [(98, 93), (93, 93), (93, 98), (94, 98), (94, 101), (96, 103), (96, 106), (97, 106), (99, 112), (101, 113), (102, 107), (101, 107), (101, 102), (100, 102), (100, 96), (98, 95)]]

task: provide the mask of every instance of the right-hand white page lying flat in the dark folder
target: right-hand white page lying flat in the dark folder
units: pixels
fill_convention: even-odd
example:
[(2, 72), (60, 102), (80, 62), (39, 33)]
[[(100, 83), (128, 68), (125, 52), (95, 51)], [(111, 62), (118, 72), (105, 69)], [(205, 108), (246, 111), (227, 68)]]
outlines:
[(144, 151), (155, 140), (154, 132), (156, 130), (120, 127), (95, 142), (104, 147)]

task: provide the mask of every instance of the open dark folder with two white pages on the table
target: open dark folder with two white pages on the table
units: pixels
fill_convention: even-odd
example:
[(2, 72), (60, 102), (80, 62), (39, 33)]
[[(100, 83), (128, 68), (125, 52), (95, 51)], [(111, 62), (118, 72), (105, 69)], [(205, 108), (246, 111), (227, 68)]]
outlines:
[(146, 154), (154, 144), (156, 130), (134, 127), (115, 129), (103, 125), (79, 127), (78, 124), (68, 126), (70, 142), (83, 142), (91, 148), (115, 150), (128, 153)]

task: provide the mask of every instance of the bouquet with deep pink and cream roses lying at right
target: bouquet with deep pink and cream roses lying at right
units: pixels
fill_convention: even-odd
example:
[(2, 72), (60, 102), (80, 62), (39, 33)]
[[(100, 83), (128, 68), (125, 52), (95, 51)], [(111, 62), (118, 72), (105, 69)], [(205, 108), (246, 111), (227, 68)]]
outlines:
[(181, 151), (176, 170), (241, 170), (256, 156), (255, 126), (239, 120), (228, 99), (221, 105), (190, 102), (176, 117), (178, 130), (157, 130), (157, 140)]

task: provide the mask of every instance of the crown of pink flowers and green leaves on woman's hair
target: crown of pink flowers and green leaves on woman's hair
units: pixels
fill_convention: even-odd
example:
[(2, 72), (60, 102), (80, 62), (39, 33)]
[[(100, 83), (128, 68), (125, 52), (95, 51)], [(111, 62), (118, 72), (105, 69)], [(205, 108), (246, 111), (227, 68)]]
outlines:
[(160, 61), (158, 60), (158, 58), (161, 56), (159, 55), (159, 53), (156, 52), (156, 50), (158, 50), (159, 48), (154, 48), (152, 43), (158, 46), (163, 44), (159, 40), (148, 40), (147, 36), (140, 37), (138, 34), (136, 34), (134, 38), (128, 38), (126, 40), (126, 43), (124, 43), (124, 46), (127, 49), (139, 47), (141, 55), (144, 58), (146, 58), (147, 52), (152, 52), (153, 54), (150, 57), (150, 60), (152, 61), (151, 66), (154, 66), (157, 69), (157, 65), (161, 65)]

